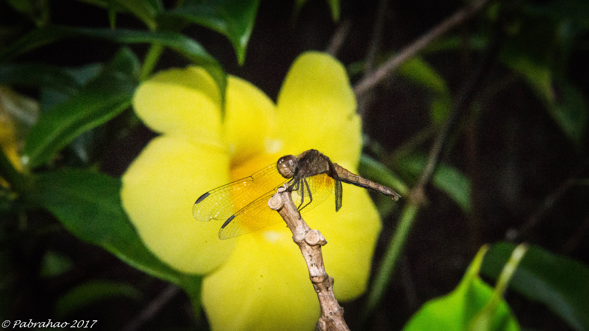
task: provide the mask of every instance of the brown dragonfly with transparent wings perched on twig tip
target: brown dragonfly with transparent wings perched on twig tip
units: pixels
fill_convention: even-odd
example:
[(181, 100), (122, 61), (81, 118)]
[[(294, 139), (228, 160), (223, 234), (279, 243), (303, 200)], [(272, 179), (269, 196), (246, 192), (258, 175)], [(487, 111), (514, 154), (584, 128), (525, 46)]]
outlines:
[(280, 214), (267, 206), (279, 187), (286, 185), (299, 212), (308, 211), (335, 196), (342, 207), (342, 183), (378, 191), (393, 200), (399, 194), (386, 186), (353, 174), (317, 150), (285, 155), (276, 163), (240, 180), (214, 188), (198, 197), (193, 216), (199, 221), (224, 220), (219, 239), (229, 239), (279, 223)]

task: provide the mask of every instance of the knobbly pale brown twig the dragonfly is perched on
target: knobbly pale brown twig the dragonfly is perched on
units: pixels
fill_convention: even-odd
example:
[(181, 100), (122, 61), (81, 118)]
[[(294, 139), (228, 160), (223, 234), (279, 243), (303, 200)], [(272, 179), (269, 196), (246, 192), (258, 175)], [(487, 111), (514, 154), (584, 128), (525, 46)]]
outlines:
[(317, 321), (317, 331), (349, 331), (343, 319), (343, 308), (339, 306), (333, 294), (333, 278), (325, 272), (321, 246), (327, 244), (319, 230), (311, 230), (294, 206), (290, 191), (280, 187), (278, 192), (268, 200), (268, 206), (278, 211), (286, 226), (293, 233), (293, 241), (299, 245), (305, 257), (309, 278), (319, 298), (321, 317)]

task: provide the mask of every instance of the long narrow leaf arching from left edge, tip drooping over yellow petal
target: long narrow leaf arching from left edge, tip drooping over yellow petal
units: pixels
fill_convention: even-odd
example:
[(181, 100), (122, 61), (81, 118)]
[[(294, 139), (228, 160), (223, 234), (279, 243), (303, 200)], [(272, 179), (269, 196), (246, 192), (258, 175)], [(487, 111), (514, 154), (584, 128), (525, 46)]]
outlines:
[(0, 62), (7, 61), (32, 49), (50, 44), (66, 38), (102, 38), (123, 44), (159, 43), (164, 47), (174, 49), (194, 64), (203, 67), (219, 86), (224, 98), (227, 87), (227, 77), (219, 62), (194, 39), (183, 34), (166, 31), (136, 31), (127, 29), (90, 29), (64, 26), (52, 26), (36, 29), (14, 42), (10, 47), (0, 52)]

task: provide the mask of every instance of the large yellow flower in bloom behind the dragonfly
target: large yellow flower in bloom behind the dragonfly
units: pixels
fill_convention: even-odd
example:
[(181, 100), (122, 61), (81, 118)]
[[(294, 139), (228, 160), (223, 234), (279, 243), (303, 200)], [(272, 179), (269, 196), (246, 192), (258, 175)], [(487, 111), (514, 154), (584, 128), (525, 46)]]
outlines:
[[(212, 188), (247, 177), (280, 156), (310, 148), (357, 171), (360, 119), (342, 65), (318, 52), (296, 59), (276, 105), (249, 82), (229, 77), (220, 93), (201, 68), (171, 69), (135, 93), (154, 138), (123, 176), (123, 206), (161, 260), (203, 274), (203, 306), (213, 330), (313, 330), (319, 304), (285, 224), (219, 240), (223, 221), (201, 222), (191, 207)], [(366, 190), (344, 184), (343, 207), (328, 199), (303, 215), (329, 244), (326, 271), (338, 300), (366, 288), (380, 220)]]

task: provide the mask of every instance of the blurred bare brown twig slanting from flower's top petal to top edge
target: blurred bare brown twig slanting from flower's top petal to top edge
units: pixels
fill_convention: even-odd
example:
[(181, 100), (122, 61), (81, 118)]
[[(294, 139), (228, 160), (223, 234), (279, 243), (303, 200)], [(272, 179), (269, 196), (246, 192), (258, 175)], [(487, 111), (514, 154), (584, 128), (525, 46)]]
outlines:
[(360, 82), (358, 82), (358, 84), (356, 84), (354, 87), (354, 93), (356, 94), (356, 97), (360, 97), (360, 95), (365, 94), (376, 84), (384, 80), (389, 74), (391, 74), (391, 72), (399, 67), (400, 64), (402, 64), (406, 59), (410, 58), (411, 55), (421, 51), (421, 49), (428, 45), (432, 40), (445, 34), (449, 29), (456, 27), (457, 25), (466, 21), (466, 19), (471, 18), (474, 14), (484, 8), (488, 2), (489, 0), (477, 0), (472, 2), (466, 8), (460, 9), (459, 11), (455, 12), (454, 15), (446, 18), (436, 27), (426, 32), (426, 34), (422, 35), (408, 47), (405, 47), (401, 52), (393, 55), (376, 71), (373, 71), (369, 77), (363, 78)]

